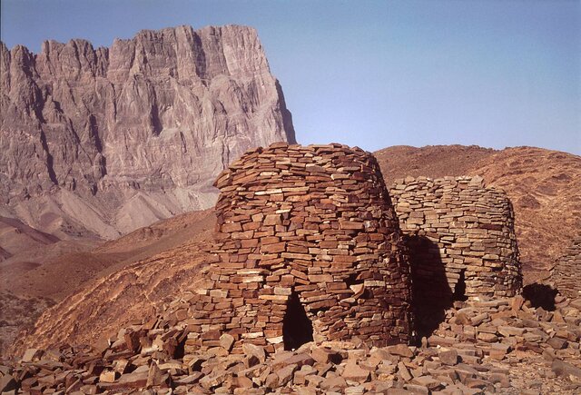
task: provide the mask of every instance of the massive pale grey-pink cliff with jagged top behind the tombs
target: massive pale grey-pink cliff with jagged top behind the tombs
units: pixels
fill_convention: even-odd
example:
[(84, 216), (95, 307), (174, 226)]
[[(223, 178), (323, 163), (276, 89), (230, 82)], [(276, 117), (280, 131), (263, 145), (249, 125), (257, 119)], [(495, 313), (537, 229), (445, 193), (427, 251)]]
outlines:
[(250, 27), (0, 43), (0, 69), (0, 215), (44, 232), (112, 238), (209, 207), (233, 159), (295, 142)]

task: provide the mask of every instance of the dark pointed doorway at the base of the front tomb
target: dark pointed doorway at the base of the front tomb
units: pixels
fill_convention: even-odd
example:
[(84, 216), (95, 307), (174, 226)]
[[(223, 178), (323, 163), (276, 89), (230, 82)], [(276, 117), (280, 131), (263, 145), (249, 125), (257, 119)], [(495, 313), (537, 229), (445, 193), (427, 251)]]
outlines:
[(287, 351), (296, 350), (304, 343), (312, 341), (312, 323), (295, 291), (287, 301), (287, 311), (282, 321), (282, 341), (284, 350)]

